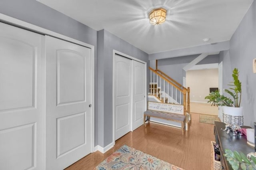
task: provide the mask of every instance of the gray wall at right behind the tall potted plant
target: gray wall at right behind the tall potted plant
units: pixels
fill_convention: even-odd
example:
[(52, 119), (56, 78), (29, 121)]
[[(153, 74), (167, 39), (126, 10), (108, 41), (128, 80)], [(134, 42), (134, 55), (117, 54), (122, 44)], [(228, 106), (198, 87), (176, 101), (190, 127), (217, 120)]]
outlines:
[[(232, 70), (237, 67), (242, 82), (244, 125), (254, 127), (256, 122), (256, 73), (252, 72), (252, 60), (256, 58), (256, 1), (244, 16), (230, 40), (230, 49), (220, 53), (223, 61), (223, 88), (232, 81)], [(225, 93), (224, 93), (225, 94)]]

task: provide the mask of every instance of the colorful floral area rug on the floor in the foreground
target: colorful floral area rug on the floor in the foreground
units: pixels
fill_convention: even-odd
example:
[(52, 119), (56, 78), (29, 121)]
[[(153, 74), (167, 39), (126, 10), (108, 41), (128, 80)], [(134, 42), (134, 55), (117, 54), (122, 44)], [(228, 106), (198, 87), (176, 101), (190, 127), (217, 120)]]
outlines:
[(184, 170), (154, 156), (124, 145), (94, 170)]

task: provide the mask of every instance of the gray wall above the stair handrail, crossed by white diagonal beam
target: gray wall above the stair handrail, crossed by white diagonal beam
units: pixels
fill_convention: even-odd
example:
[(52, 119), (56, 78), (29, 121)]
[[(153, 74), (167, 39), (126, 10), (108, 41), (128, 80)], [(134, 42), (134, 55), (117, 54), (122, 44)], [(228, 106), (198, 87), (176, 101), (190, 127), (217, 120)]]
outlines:
[[(166, 53), (166, 52), (165, 52)], [(161, 54), (161, 53), (160, 53)], [(156, 54), (155, 54), (156, 55)], [(158, 69), (166, 73), (172, 79), (176, 80), (178, 83), (183, 84), (183, 77), (186, 77), (186, 72), (182, 69), (200, 54), (187, 55), (182, 57), (173, 57), (168, 59), (158, 60)], [(155, 60), (150, 60), (150, 66), (155, 69)], [(208, 55), (198, 64), (210, 64), (218, 63), (219, 55)]]

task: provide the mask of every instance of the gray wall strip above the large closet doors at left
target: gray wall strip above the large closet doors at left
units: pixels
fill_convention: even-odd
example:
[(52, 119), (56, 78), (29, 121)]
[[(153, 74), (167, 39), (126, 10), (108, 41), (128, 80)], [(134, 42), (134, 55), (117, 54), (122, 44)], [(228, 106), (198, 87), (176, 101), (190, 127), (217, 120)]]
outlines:
[(0, 0), (0, 13), (89, 43), (97, 49), (96, 30), (36, 0)]

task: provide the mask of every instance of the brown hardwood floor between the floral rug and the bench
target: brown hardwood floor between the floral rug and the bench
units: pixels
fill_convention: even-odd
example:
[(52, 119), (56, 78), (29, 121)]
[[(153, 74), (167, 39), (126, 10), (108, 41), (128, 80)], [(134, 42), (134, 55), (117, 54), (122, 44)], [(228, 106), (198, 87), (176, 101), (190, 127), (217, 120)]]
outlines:
[(116, 140), (105, 154), (99, 151), (85, 156), (66, 170), (91, 170), (110, 154), (126, 144), (186, 170), (210, 170), (210, 141), (214, 140), (214, 125), (199, 123), (199, 114), (192, 113), (189, 131), (150, 123)]

